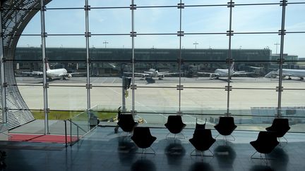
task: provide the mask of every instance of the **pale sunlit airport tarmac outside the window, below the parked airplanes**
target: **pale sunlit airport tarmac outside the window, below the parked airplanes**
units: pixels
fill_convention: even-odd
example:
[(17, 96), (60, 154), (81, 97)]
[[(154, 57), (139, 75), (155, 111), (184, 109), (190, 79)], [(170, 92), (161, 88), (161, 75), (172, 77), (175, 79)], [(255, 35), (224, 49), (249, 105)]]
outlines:
[[(42, 78), (16, 77), (20, 94), (30, 109), (43, 109)], [(152, 83), (153, 82), (153, 83)], [(72, 77), (69, 80), (52, 80), (48, 89), (48, 104), (50, 110), (85, 110), (87, 108), (87, 89), (85, 77)], [(92, 77), (90, 78), (91, 106), (104, 110), (116, 110), (122, 104), (121, 78)], [(209, 77), (181, 78), (183, 90), (177, 90), (179, 77), (165, 77), (164, 80), (135, 79), (135, 110), (139, 113), (136, 120), (143, 119), (148, 126), (164, 127), (167, 121), (165, 113), (184, 113), (183, 120), (190, 128), (198, 122), (208, 119), (208, 127), (213, 128), (219, 115), (227, 112), (227, 80), (210, 80)], [(251, 108), (277, 107), (278, 79), (263, 77), (233, 77), (230, 82), (229, 108), (236, 118), (251, 119)], [(283, 80), (282, 107), (305, 106), (305, 82), (303, 80)], [(131, 110), (132, 91), (128, 89), (126, 109)], [(179, 96), (181, 101), (179, 101)], [(202, 115), (204, 114), (204, 115)], [(245, 116), (246, 115), (246, 116)], [(270, 117), (272, 120), (273, 117)], [(63, 121), (51, 121), (50, 130), (62, 134)], [(60, 124), (59, 124), (60, 123)], [(30, 132), (43, 132), (44, 122), (32, 122), (27, 126)], [(52, 126), (53, 125), (53, 126)], [(61, 125), (61, 126), (59, 126)], [(114, 126), (115, 123), (101, 122), (100, 125)], [(241, 123), (241, 130), (262, 130), (270, 125)], [(304, 132), (304, 124), (297, 124), (292, 131)], [(58, 129), (58, 130), (57, 130)], [(17, 129), (18, 130), (18, 129)], [(23, 129), (24, 130), (24, 129)], [(16, 132), (20, 132), (20, 129)]]

